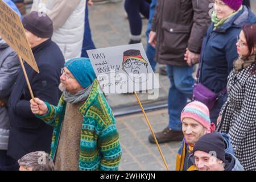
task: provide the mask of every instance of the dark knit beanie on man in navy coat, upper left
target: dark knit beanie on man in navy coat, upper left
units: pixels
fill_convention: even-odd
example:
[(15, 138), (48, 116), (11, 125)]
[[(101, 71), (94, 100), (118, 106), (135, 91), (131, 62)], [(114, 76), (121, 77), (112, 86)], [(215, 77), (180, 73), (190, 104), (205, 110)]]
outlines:
[(40, 14), (32, 11), (24, 16), (23, 27), (39, 38), (51, 38), (53, 34), (53, 23), (47, 14)]

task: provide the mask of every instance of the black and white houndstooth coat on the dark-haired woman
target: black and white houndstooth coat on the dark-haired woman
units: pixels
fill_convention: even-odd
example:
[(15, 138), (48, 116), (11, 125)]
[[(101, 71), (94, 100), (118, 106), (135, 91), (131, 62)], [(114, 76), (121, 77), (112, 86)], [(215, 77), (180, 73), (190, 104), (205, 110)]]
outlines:
[(218, 131), (227, 133), (245, 170), (256, 170), (256, 63), (228, 77), (228, 100), (222, 106)]

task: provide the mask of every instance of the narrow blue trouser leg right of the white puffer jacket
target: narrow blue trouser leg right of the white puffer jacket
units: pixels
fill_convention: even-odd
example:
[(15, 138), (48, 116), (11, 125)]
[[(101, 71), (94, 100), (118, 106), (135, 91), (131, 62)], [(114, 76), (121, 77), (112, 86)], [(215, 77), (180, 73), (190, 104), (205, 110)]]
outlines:
[(84, 27), (84, 41), (82, 43), (82, 57), (89, 57), (87, 54), (87, 50), (95, 49), (92, 34), (90, 33), (90, 24), (88, 18), (88, 5), (86, 5), (85, 9), (85, 27)]

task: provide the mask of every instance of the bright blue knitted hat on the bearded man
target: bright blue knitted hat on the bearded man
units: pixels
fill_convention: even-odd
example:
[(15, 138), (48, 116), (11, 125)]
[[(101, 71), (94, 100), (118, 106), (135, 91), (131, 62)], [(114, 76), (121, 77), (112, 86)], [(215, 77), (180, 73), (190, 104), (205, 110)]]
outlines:
[(92, 64), (88, 58), (74, 58), (67, 61), (64, 66), (68, 68), (68, 70), (72, 73), (72, 75), (83, 88), (92, 85), (96, 78)]

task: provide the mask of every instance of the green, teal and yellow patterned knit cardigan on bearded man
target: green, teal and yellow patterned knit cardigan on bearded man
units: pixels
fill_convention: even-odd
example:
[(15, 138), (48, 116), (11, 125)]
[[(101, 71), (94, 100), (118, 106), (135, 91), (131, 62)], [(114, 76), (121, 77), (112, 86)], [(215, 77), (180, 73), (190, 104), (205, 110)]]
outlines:
[[(59, 142), (61, 126), (67, 103), (61, 96), (58, 106), (49, 105), (46, 115), (36, 115), (48, 125), (54, 126), (51, 158), (54, 159)], [(79, 170), (118, 170), (122, 150), (115, 119), (108, 102), (98, 88), (98, 82), (93, 82), (88, 99), (80, 107), (84, 119), (82, 121)]]

